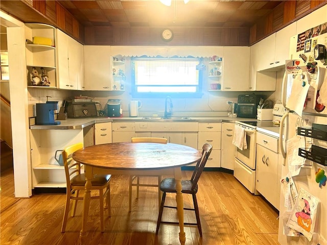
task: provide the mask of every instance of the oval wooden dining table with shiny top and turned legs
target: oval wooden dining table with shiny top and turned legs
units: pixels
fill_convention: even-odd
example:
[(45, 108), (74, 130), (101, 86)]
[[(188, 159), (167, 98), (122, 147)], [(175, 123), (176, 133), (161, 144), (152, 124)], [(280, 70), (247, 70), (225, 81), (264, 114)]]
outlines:
[(80, 232), (84, 244), (86, 223), (90, 202), (91, 179), (96, 174), (111, 175), (173, 175), (176, 180), (176, 203), (179, 221), (179, 241), (185, 244), (181, 166), (195, 163), (201, 153), (190, 146), (181, 144), (119, 142), (98, 144), (78, 150), (73, 159), (85, 166), (85, 193), (83, 220)]

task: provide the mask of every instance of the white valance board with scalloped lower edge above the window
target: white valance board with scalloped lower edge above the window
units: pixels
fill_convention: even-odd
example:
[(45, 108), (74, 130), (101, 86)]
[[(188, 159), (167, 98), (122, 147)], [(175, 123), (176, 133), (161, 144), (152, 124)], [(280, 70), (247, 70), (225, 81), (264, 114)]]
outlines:
[(223, 46), (111, 46), (111, 55), (117, 56), (162, 56), (162, 57), (213, 57), (224, 56)]

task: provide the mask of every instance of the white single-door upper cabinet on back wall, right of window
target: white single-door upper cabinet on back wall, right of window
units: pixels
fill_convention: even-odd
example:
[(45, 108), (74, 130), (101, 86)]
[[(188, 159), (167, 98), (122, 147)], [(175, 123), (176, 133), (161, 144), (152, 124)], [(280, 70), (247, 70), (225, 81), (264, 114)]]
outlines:
[(222, 91), (247, 91), (250, 78), (250, 47), (224, 46)]

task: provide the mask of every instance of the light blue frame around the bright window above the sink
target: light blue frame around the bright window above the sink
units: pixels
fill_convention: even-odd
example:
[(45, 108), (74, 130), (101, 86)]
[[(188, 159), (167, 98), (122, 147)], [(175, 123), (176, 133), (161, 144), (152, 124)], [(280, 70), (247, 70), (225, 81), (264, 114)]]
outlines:
[[(141, 57), (131, 57), (131, 95), (133, 98), (164, 98), (167, 96), (173, 97), (173, 98), (201, 98), (203, 93), (202, 93), (202, 85), (203, 85), (203, 70), (199, 69), (198, 72), (198, 85), (197, 86), (197, 91), (196, 92), (138, 92), (137, 91), (137, 85), (135, 85), (135, 59), (193, 59), (193, 60), (198, 60), (199, 63), (201, 63), (200, 58), (195, 58), (195, 57), (148, 57), (148, 56), (141, 56)], [(153, 85), (153, 86), (162, 86), (162, 85)], [(171, 85), (174, 86), (174, 85)], [(188, 85), (176, 85), (178, 87), (180, 86), (188, 86)], [(194, 86), (194, 85), (189, 85), (189, 86)]]

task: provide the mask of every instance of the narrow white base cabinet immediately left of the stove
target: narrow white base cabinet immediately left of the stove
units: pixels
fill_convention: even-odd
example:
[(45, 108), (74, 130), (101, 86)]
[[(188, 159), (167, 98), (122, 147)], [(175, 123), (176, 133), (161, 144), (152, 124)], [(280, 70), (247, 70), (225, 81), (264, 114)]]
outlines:
[(221, 167), (234, 170), (236, 146), (232, 144), (234, 136), (233, 122), (221, 123)]

